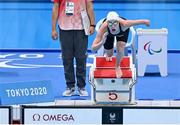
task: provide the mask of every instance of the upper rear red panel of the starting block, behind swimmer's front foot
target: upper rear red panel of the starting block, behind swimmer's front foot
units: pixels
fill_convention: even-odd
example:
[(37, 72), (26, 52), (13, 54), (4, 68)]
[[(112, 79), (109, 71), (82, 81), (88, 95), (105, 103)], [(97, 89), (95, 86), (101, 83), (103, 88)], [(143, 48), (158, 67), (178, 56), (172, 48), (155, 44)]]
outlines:
[[(112, 67), (116, 65), (116, 57), (112, 57), (112, 61), (106, 61), (105, 57), (96, 57), (96, 67)], [(120, 67), (130, 67), (130, 57), (123, 57)]]

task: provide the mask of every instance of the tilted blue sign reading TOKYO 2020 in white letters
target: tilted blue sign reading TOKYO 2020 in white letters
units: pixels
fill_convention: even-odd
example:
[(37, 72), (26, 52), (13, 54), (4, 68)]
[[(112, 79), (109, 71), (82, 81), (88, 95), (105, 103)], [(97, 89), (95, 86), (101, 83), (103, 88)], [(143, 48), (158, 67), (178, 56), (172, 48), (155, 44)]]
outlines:
[(53, 102), (51, 81), (30, 81), (0, 84), (2, 105)]

